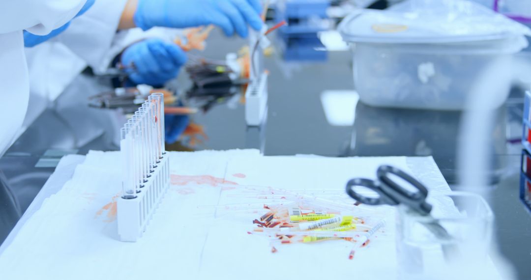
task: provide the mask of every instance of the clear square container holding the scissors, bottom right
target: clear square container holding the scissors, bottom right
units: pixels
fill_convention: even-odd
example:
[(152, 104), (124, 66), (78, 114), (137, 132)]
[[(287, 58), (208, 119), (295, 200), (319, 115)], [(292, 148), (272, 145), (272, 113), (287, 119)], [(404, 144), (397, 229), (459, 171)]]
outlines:
[[(453, 191), (432, 198), (433, 217), (399, 208), (400, 279), (475, 279), (489, 274), (494, 215), (479, 195)], [(438, 223), (450, 239), (440, 238), (425, 224)]]

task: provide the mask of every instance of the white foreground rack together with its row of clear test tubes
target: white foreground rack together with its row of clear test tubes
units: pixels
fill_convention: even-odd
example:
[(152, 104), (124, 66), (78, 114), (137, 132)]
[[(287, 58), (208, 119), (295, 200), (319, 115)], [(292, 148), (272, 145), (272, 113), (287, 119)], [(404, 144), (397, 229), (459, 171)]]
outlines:
[(122, 196), (117, 201), (118, 235), (136, 242), (169, 188), (169, 153), (164, 149), (164, 94), (153, 93), (122, 128)]

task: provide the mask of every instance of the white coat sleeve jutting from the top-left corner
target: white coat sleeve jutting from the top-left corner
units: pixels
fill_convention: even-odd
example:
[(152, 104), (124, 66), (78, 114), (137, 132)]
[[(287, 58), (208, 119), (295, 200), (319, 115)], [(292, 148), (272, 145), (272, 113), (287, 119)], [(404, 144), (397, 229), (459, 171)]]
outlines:
[(70, 21), (86, 0), (0, 0), (0, 34), (46, 35)]

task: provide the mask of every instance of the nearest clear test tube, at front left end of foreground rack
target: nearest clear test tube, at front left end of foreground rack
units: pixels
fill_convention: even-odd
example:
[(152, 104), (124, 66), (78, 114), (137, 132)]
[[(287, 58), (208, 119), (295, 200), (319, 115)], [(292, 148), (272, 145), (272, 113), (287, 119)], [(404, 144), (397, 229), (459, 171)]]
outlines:
[(133, 171), (133, 150), (130, 128), (125, 126), (120, 130), (120, 133), (120, 153), (122, 156), (122, 198), (133, 199), (136, 198), (136, 185), (131, 177)]

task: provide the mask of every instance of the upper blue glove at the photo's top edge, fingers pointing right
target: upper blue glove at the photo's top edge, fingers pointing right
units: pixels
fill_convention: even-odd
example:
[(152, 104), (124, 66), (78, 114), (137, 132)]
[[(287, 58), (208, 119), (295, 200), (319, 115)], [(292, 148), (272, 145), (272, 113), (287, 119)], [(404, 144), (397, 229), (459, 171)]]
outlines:
[(247, 24), (262, 28), (260, 0), (139, 0), (133, 20), (143, 30), (215, 24), (232, 36), (247, 36)]

